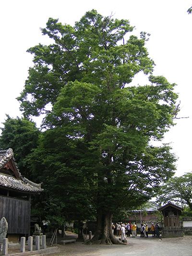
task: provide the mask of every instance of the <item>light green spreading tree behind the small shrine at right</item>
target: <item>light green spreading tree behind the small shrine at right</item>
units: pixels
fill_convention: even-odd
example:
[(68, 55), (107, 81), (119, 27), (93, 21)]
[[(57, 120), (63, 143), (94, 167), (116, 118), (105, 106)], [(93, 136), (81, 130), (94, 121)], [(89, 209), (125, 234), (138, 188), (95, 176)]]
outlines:
[(159, 203), (173, 201), (181, 206), (187, 205), (192, 211), (192, 172), (171, 178), (161, 187), (159, 194)]

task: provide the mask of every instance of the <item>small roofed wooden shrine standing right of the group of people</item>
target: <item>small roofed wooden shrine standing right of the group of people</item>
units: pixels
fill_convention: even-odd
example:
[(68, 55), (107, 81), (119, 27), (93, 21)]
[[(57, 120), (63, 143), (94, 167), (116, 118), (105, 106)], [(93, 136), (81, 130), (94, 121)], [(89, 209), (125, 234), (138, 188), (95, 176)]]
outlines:
[(182, 237), (182, 230), (180, 227), (180, 214), (182, 208), (168, 202), (166, 205), (158, 208), (162, 212), (164, 218), (163, 237)]

